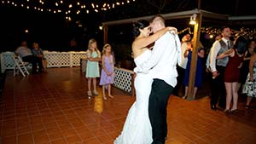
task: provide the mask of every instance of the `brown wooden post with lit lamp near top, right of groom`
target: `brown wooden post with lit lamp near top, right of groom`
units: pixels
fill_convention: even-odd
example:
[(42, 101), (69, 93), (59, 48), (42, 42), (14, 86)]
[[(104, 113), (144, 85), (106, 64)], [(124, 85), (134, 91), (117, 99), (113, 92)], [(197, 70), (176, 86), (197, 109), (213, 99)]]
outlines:
[(195, 88), (195, 73), (196, 73), (196, 65), (197, 65), (197, 53), (198, 53), (198, 42), (200, 40), (200, 29), (201, 29), (201, 19), (202, 14), (197, 14), (196, 24), (194, 26), (194, 41), (193, 41), (193, 52), (191, 58), (191, 65), (189, 71), (189, 89), (188, 89), (188, 100), (195, 100), (193, 97), (194, 88)]

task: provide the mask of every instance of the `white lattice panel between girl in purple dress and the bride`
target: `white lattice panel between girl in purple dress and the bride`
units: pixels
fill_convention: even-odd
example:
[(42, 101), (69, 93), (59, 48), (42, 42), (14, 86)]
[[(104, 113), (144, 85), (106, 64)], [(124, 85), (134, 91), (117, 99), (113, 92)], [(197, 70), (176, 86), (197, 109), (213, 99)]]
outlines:
[(131, 92), (131, 76), (133, 74), (132, 71), (127, 71), (125, 69), (115, 68), (115, 77), (113, 85), (119, 89), (123, 89), (126, 92)]

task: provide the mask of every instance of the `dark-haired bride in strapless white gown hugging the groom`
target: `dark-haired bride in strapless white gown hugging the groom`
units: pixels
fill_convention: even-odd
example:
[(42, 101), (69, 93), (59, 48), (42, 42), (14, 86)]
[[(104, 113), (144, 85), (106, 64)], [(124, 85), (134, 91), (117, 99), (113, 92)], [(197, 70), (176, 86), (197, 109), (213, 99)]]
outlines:
[[(132, 52), (136, 66), (142, 65), (151, 56), (151, 50), (147, 46), (172, 30), (173, 27), (166, 27), (149, 36), (150, 26), (147, 20), (134, 22), (135, 40), (132, 43)], [(153, 141), (151, 124), (148, 118), (148, 97), (152, 82), (153, 79), (150, 74), (137, 73), (134, 82), (136, 101), (128, 112), (121, 134), (113, 141), (114, 144), (151, 144)]]

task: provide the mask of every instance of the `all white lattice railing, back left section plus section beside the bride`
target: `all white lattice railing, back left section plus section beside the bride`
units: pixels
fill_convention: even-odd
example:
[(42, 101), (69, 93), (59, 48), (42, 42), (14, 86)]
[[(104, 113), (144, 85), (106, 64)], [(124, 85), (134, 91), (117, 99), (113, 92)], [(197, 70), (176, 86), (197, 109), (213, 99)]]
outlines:
[[(84, 58), (85, 52), (48, 52), (44, 51), (44, 57), (47, 60), (47, 67), (61, 67), (61, 66), (80, 66), (80, 59)], [(12, 59), (13, 52), (4, 52), (1, 56), (1, 69), (2, 72), (5, 70), (13, 70), (15, 62)], [(114, 68), (115, 77), (113, 85), (119, 89), (123, 89), (128, 93), (133, 93), (132, 87), (132, 76), (133, 73), (130, 70), (124, 68)]]

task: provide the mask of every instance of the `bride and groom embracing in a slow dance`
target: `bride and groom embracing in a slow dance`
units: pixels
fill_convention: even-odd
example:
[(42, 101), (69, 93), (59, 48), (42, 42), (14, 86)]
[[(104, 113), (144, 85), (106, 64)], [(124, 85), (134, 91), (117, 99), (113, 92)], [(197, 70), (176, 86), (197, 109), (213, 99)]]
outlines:
[[(150, 32), (154, 34), (150, 35)], [(155, 15), (150, 23), (133, 23), (135, 40), (132, 52), (137, 76), (136, 101), (131, 106), (121, 134), (114, 144), (164, 144), (167, 135), (166, 106), (177, 84), (177, 61), (181, 58), (180, 41), (175, 27)], [(153, 49), (148, 45), (154, 43)]]

